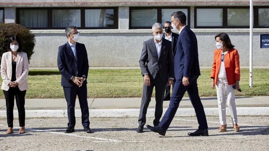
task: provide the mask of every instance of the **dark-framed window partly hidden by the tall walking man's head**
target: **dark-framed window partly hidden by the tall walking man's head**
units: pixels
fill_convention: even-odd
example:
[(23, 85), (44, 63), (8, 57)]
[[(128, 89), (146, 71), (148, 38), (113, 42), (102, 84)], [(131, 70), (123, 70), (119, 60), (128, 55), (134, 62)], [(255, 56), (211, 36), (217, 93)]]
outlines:
[(150, 29), (156, 22), (164, 24), (171, 21), (171, 14), (176, 11), (184, 12), (190, 25), (190, 7), (130, 7), (129, 29)]

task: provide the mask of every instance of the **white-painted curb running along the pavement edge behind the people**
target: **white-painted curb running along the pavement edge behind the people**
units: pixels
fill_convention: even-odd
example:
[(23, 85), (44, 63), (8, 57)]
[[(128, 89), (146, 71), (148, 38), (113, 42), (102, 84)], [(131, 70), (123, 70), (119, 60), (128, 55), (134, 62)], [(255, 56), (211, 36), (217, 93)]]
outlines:
[[(237, 115), (257, 116), (269, 115), (269, 107), (237, 107)], [(164, 109), (163, 114), (167, 109)], [(218, 116), (218, 108), (204, 108), (207, 116)], [(138, 117), (139, 109), (91, 109), (90, 117)], [(18, 118), (18, 111), (14, 110)], [(147, 117), (154, 117), (155, 109), (148, 109)], [(227, 115), (230, 115), (226, 108)], [(75, 116), (81, 117), (81, 110), (75, 110)], [(196, 116), (193, 108), (179, 108), (175, 116)], [(0, 111), (0, 117), (6, 117), (6, 111)], [(67, 117), (67, 110), (25, 110), (25, 117)]]

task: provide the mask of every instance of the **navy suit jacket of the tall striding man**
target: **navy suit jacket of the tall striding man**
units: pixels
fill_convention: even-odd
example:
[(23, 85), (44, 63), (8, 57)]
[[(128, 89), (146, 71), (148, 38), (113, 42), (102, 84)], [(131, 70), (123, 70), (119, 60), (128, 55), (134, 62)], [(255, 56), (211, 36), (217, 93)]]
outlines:
[(184, 27), (179, 35), (174, 59), (176, 80), (182, 80), (183, 76), (192, 77), (201, 75), (197, 39), (188, 26)]

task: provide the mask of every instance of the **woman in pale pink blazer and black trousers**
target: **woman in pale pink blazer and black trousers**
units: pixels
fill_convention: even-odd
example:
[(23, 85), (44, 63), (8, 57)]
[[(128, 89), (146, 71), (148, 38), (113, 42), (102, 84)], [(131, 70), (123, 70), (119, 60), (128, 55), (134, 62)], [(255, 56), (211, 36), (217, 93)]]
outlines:
[(8, 129), (7, 134), (13, 133), (13, 108), (14, 97), (19, 112), (19, 133), (24, 133), (25, 121), (25, 94), (28, 89), (26, 77), (28, 75), (28, 58), (25, 52), (21, 52), (22, 45), (19, 37), (12, 36), (8, 42), (8, 52), (3, 53), (1, 60), (1, 77), (3, 79), (1, 89), (6, 98), (6, 115)]

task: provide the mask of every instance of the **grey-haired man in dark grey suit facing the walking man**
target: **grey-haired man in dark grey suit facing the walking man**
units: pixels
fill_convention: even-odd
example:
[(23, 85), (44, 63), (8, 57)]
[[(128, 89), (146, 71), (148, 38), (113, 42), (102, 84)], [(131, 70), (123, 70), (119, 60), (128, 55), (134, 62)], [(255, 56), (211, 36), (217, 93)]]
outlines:
[(162, 38), (163, 28), (160, 23), (152, 26), (153, 36), (144, 41), (139, 60), (142, 76), (144, 76), (143, 94), (138, 117), (138, 133), (143, 132), (146, 124), (146, 113), (155, 87), (155, 119), (153, 125), (158, 125), (163, 113), (165, 85), (171, 85), (174, 80), (174, 62), (171, 42)]

